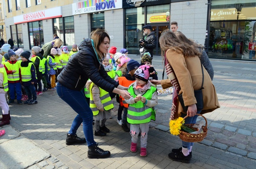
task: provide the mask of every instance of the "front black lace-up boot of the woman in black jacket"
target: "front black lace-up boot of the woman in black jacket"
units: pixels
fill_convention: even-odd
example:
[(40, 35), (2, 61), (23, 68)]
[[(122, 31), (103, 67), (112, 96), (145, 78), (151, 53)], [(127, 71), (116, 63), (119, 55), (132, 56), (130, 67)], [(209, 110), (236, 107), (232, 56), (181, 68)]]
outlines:
[(110, 156), (110, 151), (104, 151), (99, 148), (98, 144), (88, 147), (88, 158), (106, 158)]

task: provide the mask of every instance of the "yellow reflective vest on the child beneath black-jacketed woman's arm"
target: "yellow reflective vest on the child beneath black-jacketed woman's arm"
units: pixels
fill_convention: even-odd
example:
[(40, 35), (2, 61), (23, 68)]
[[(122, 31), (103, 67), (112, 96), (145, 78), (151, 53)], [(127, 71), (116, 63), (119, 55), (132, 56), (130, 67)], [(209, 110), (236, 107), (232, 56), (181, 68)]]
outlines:
[[(93, 111), (93, 115), (96, 116), (99, 114), (99, 109), (97, 109), (97, 106), (93, 100), (93, 93), (91, 93), (91, 89), (93, 88), (93, 85), (94, 85), (94, 83), (90, 84), (90, 108), (91, 108), (91, 111)], [(99, 89), (100, 89), (100, 101), (103, 105), (104, 110), (113, 109), (114, 105), (111, 101), (109, 93), (106, 92), (105, 90), (101, 89), (100, 87), (99, 87)]]

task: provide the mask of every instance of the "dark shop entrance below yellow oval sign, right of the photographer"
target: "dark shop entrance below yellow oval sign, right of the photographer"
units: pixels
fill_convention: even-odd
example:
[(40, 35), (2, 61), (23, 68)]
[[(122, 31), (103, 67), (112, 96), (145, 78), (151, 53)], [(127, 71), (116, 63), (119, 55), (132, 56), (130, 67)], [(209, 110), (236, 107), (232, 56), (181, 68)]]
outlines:
[(161, 33), (169, 29), (169, 23), (166, 24), (151, 24), (152, 26), (152, 31), (155, 32), (156, 36), (156, 49), (153, 51), (153, 55), (161, 55), (161, 49), (160, 49), (160, 43), (159, 43), (159, 38), (161, 36)]

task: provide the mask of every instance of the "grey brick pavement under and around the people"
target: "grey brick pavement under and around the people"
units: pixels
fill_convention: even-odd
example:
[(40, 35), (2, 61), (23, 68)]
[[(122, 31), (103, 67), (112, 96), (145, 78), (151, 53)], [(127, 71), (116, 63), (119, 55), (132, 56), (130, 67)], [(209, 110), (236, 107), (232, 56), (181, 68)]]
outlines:
[[(139, 57), (132, 55), (131, 58), (138, 60)], [(208, 135), (194, 145), (190, 164), (173, 162), (168, 158), (171, 149), (181, 145), (177, 136), (168, 133), (171, 95), (158, 97), (156, 121), (150, 123), (148, 133), (147, 157), (140, 157), (139, 151), (130, 152), (130, 135), (116, 123), (117, 103), (114, 102), (113, 119), (106, 122), (111, 132), (106, 137), (95, 137), (100, 147), (111, 151), (112, 155), (107, 159), (88, 159), (86, 144), (65, 144), (66, 134), (75, 117), (74, 111), (62, 102), (56, 91), (47, 91), (38, 96), (36, 105), (17, 105), (15, 102), (10, 106), (11, 126), (51, 155), (28, 168), (255, 168), (255, 63), (211, 62), (215, 70), (213, 83), (221, 108), (205, 114)], [(161, 64), (162, 59), (154, 57), (153, 65), (159, 79)], [(77, 130), (77, 135), (83, 137), (82, 127)], [(26, 158), (26, 154), (22, 155)]]

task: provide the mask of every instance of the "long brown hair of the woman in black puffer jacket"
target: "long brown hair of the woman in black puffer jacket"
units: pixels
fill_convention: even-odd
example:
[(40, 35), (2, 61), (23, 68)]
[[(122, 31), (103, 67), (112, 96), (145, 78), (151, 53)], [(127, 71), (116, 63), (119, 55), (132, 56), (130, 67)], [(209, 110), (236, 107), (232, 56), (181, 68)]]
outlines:
[(96, 29), (95, 31), (91, 32), (90, 36), (94, 42), (94, 48), (97, 52), (97, 55), (100, 57), (99, 59), (103, 59), (105, 57), (103, 55), (106, 55), (107, 53), (101, 53), (99, 51), (99, 46), (104, 42), (105, 37), (108, 37), (110, 40), (108, 33), (104, 29)]

